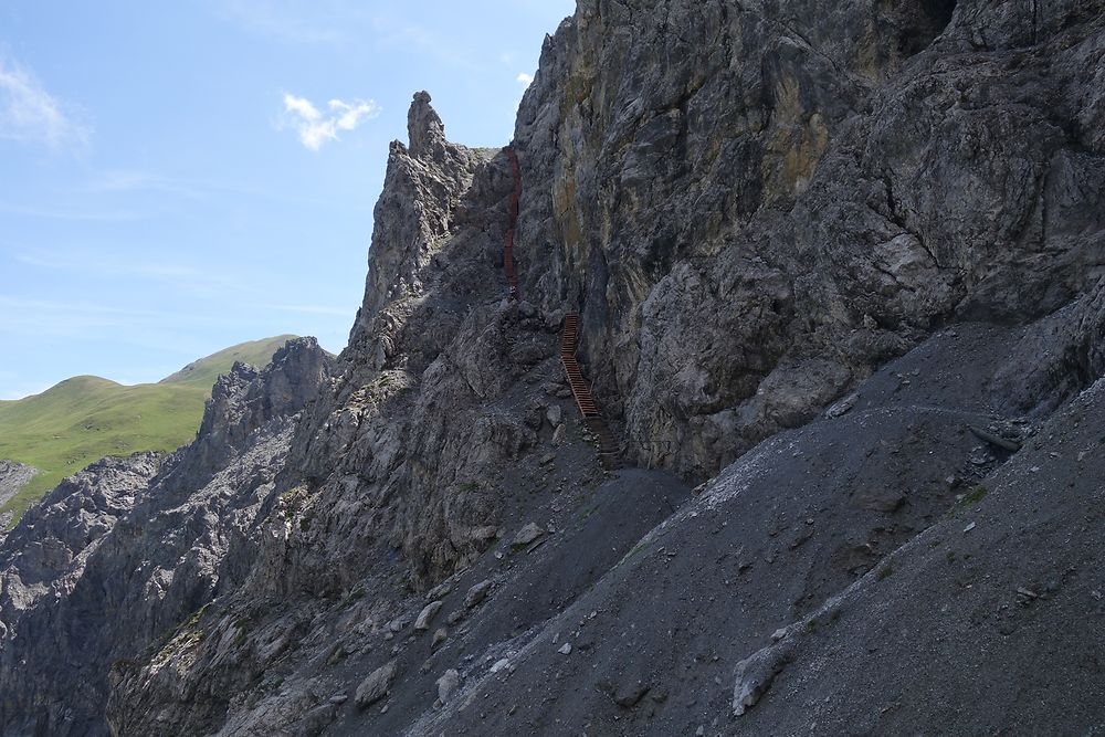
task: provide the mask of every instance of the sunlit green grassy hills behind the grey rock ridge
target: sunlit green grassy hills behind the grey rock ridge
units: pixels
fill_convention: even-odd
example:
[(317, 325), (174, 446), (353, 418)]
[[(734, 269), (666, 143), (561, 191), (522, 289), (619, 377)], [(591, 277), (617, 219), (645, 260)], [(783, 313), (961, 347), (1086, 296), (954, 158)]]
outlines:
[(0, 401), (0, 459), (19, 461), (40, 473), (3, 506), (15, 519), (46, 492), (105, 455), (172, 451), (191, 442), (203, 402), (220, 373), (234, 361), (269, 364), (294, 336), (234, 346), (189, 364), (158, 383), (134, 387), (80, 376), (41, 394)]

